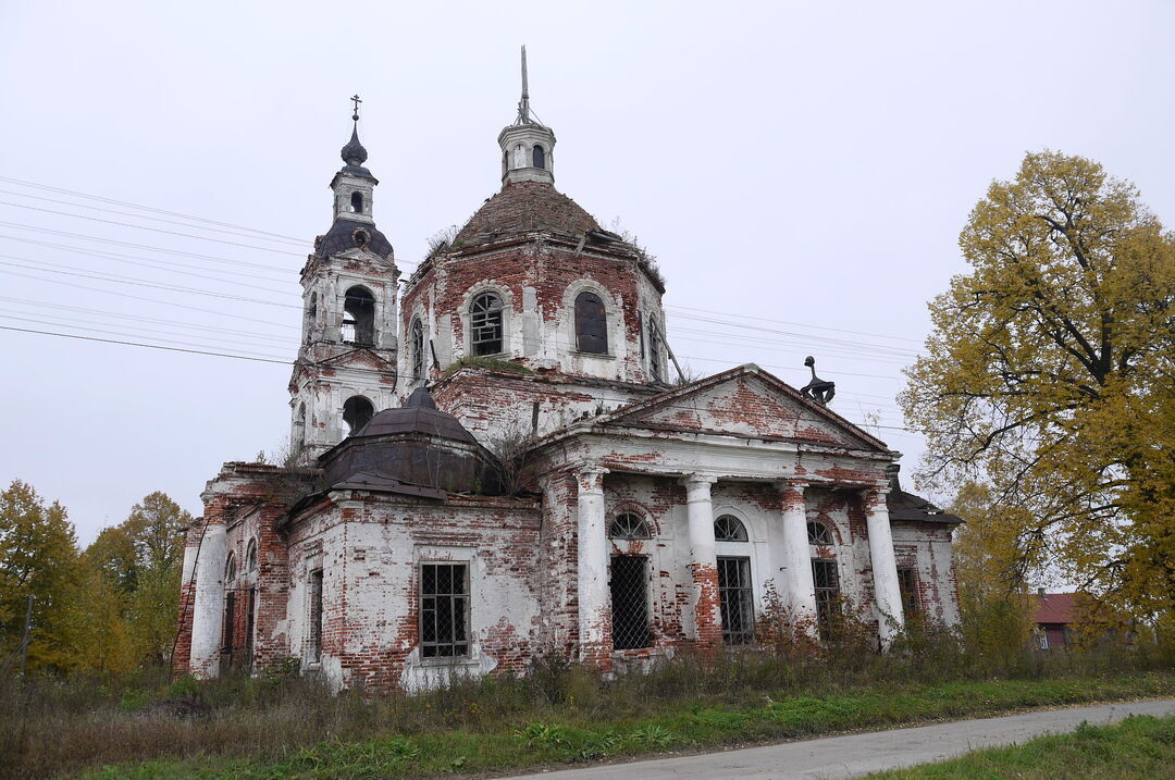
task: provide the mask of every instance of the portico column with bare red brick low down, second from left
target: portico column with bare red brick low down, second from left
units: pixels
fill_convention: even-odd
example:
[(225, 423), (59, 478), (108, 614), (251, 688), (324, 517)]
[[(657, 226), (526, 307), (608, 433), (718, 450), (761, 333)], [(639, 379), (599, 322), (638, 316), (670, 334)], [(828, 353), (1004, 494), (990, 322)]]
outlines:
[(693, 607), (693, 637), (699, 645), (718, 645), (723, 637), (718, 594), (718, 557), (714, 553), (714, 509), (710, 485), (717, 477), (690, 475), (685, 485), (686, 517), (690, 525), (690, 579)]

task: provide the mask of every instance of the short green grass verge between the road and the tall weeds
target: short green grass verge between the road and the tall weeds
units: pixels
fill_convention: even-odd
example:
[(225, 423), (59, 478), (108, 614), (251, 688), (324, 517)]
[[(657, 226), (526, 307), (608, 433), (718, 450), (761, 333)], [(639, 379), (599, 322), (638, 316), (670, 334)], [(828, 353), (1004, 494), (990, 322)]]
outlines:
[[(387, 733), (345, 740), (324, 739), (307, 747), (284, 747), (253, 755), (208, 755), (197, 749), (187, 752), (184, 758), (122, 762), (89, 769), (82, 776), (432, 776), (532, 768), (678, 748), (714, 748), (989, 715), (1032, 707), (1173, 694), (1175, 675), (1150, 672), (1106, 678), (878, 685), (827, 695), (779, 699), (759, 695), (756, 700), (740, 705), (693, 699), (663, 702), (656, 714), (620, 719), (600, 718), (597, 713), (569, 707), (558, 713), (549, 713), (542, 721), (499, 721), (482, 728)], [(1130, 728), (1139, 726), (1132, 724)], [(1171, 728), (1169, 725), (1166, 728), (1169, 741)], [(195, 744), (200, 741), (196, 740)], [(1169, 762), (1170, 747), (1168, 744), (1166, 759), (1156, 760)], [(242, 748), (242, 753), (248, 752), (247, 746)], [(1055, 769), (1052, 772), (1055, 774)], [(985, 775), (980, 771), (974, 776), (1000, 775)]]

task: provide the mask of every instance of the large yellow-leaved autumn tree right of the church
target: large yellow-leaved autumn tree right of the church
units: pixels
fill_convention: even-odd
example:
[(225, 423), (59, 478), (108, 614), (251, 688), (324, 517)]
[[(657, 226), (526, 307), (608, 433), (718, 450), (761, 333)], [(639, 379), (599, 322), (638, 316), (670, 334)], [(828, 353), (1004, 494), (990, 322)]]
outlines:
[(1029, 154), (960, 240), (969, 274), (931, 303), (899, 401), (927, 436), (920, 477), (968, 478), (1021, 572), (1157, 617), (1175, 603), (1175, 237), (1101, 166)]

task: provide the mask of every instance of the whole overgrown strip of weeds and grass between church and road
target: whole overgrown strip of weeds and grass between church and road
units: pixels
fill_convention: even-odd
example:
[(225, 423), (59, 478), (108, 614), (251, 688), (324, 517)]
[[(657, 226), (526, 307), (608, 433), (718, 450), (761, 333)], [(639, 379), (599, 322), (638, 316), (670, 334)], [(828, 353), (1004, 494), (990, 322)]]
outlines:
[[(1153, 646), (986, 658), (915, 628), (894, 653), (765, 646), (603, 679), (560, 660), (418, 697), (162, 672), (0, 680), (0, 776), (421, 776), (744, 745), (1175, 694)], [(143, 764), (146, 762), (146, 764)], [(110, 768), (102, 769), (109, 765)], [(88, 767), (88, 769), (87, 769)]]

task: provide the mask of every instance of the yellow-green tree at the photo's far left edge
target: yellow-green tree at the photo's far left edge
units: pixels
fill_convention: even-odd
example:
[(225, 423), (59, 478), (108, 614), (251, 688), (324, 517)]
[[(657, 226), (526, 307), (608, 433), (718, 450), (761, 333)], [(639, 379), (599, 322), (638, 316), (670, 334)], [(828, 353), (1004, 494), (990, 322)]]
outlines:
[(32, 485), (14, 479), (0, 493), (0, 665), (18, 652), (29, 594), (29, 668), (73, 664), (67, 610), (76, 580), (78, 543), (65, 507), (47, 506)]

